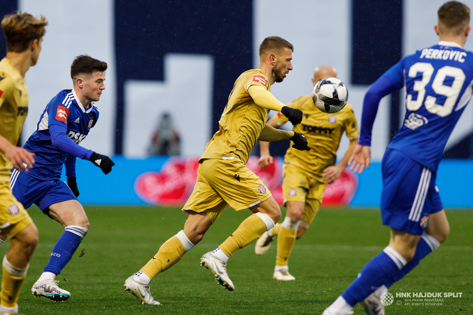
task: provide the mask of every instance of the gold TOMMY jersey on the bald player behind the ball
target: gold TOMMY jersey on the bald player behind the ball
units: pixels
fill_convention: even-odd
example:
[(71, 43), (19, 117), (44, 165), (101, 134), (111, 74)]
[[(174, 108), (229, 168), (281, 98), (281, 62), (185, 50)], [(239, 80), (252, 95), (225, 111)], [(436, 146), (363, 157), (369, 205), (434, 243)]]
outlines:
[[(343, 131), (346, 131), (350, 140), (358, 138), (359, 131), (353, 109), (347, 103), (339, 112), (324, 113), (315, 107), (312, 95), (300, 96), (289, 102), (287, 106), (297, 108), (304, 113), (302, 122), (294, 126), (294, 131), (306, 136), (311, 150), (296, 150), (291, 142), (284, 156), (284, 163), (298, 166), (320, 177), (321, 180), (324, 169), (335, 165)], [(280, 126), (288, 121), (282, 113), (277, 113), (274, 119)]]

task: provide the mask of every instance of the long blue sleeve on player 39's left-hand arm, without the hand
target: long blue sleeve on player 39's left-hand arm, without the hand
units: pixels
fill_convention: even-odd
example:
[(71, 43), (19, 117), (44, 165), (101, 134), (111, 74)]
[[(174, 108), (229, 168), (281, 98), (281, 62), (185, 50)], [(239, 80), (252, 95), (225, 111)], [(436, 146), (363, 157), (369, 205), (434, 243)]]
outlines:
[[(392, 68), (391, 68), (392, 69)], [(391, 71), (391, 69), (388, 70)], [(402, 87), (402, 86), (401, 86)], [(400, 87), (399, 87), (400, 88)], [(373, 83), (365, 94), (363, 112), (361, 113), (361, 130), (359, 145), (371, 145), (371, 132), (378, 111), (379, 101), (399, 89), (394, 82), (383, 75)]]

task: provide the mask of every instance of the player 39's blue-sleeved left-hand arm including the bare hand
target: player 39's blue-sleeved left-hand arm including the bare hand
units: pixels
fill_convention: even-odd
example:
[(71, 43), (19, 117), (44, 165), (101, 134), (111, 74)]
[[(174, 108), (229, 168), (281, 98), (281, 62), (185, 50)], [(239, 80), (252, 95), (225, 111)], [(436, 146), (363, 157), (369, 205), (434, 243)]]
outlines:
[(373, 130), (373, 123), (375, 122), (379, 102), (386, 95), (404, 86), (402, 62), (403, 60), (399, 61), (387, 70), (369, 87), (365, 94), (358, 145), (355, 145), (348, 161), (350, 169), (355, 173), (358, 172), (361, 174), (365, 167), (369, 167), (371, 159), (371, 132)]

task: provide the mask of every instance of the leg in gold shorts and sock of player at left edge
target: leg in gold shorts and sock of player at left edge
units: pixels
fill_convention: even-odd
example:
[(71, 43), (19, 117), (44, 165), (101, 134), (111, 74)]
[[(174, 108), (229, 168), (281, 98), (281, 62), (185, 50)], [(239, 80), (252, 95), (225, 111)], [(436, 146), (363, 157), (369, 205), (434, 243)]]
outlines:
[(11, 241), (3, 258), (0, 292), (0, 314), (8, 314), (18, 312), (20, 289), (38, 243), (38, 230), (23, 205), (11, 194), (8, 182), (0, 183), (0, 226)]

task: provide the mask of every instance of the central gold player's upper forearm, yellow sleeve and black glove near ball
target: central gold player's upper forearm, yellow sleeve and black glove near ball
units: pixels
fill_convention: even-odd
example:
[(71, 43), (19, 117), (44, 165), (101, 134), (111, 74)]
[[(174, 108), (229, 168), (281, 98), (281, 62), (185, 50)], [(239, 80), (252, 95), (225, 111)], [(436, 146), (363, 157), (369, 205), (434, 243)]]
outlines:
[(284, 105), (262, 85), (251, 85), (248, 87), (248, 94), (253, 98), (256, 105), (268, 110), (280, 111), (284, 116), (289, 118), (289, 121), (293, 125), (300, 124), (302, 121), (302, 111)]

